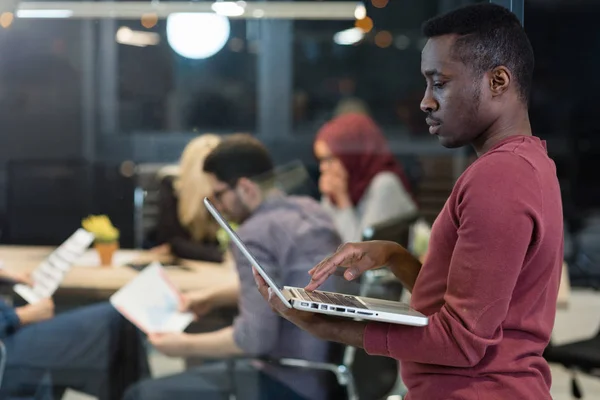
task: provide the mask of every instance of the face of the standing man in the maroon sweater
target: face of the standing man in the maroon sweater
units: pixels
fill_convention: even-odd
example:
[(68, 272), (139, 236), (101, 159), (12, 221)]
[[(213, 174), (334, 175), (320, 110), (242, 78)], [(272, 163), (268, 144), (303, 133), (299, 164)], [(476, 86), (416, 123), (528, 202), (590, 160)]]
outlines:
[(476, 76), (452, 56), (456, 38), (431, 38), (421, 54), (421, 73), (427, 81), (421, 110), (427, 114), (429, 132), (448, 148), (473, 142), (489, 126), (485, 117), (489, 98), (486, 74)]

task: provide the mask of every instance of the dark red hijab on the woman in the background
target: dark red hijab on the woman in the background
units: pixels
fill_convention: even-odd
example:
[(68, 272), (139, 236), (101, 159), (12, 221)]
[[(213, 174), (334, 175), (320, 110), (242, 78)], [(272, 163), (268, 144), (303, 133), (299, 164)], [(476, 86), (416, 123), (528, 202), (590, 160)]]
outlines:
[(369, 116), (343, 114), (323, 125), (316, 141), (323, 141), (348, 172), (348, 191), (356, 206), (373, 178), (392, 172), (412, 195), (404, 170), (390, 151), (386, 138)]

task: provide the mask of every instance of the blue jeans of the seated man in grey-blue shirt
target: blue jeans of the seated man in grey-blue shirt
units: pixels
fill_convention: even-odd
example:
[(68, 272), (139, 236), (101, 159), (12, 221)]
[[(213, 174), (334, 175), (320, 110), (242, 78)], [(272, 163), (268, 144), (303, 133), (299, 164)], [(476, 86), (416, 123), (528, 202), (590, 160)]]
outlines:
[(247, 362), (236, 363), (235, 373), (224, 362), (214, 362), (177, 375), (148, 379), (131, 386), (123, 400), (305, 400), (283, 383)]

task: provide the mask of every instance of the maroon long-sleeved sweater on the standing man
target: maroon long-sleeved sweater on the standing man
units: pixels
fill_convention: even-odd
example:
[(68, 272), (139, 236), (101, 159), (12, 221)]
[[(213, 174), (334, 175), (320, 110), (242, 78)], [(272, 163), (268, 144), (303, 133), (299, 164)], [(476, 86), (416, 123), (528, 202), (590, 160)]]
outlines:
[(429, 325), (370, 323), (365, 349), (402, 361), (410, 400), (550, 400), (542, 352), (562, 259), (545, 142), (508, 138), (463, 173), (433, 225), (412, 294)]

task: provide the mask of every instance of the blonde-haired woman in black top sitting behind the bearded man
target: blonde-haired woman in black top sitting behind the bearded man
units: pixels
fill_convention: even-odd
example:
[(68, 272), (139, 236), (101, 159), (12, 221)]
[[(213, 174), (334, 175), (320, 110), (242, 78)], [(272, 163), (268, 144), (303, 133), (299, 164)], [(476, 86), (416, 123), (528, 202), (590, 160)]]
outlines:
[(192, 260), (222, 261), (218, 225), (202, 203), (212, 193), (202, 170), (204, 159), (220, 141), (213, 134), (197, 137), (183, 150), (178, 167), (159, 172), (158, 246), (153, 251)]

